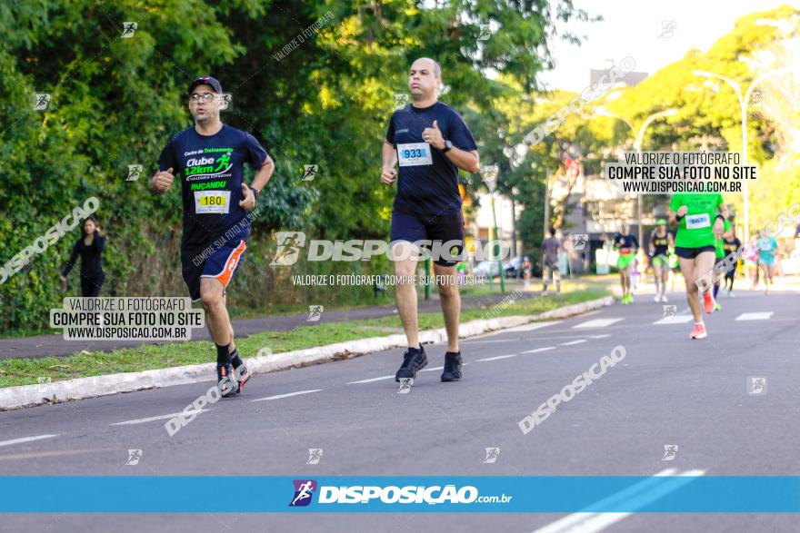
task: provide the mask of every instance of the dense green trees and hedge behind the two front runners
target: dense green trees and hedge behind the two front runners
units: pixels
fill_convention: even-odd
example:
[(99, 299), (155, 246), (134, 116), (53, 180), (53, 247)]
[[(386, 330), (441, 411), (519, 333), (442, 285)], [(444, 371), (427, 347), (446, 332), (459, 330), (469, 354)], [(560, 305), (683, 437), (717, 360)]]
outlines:
[[(178, 188), (155, 196), (146, 183), (170, 135), (191, 125), (186, 85), (210, 73), (233, 94), (233, 110), (223, 121), (253, 133), (276, 163), (259, 198), (265, 213), (254, 222), (245, 255), (249, 266), (235, 278), (231, 304), (268, 310), (283, 301), (335, 299), (335, 291), (309, 294), (285, 284), (288, 272), (269, 266), (272, 233), (386, 237), (394, 191), (379, 183), (380, 145), (394, 94), (406, 92), (411, 61), (428, 55), (444, 65), (451, 90), (443, 100), (474, 122), (476, 136), (495, 152), (502, 149), (488, 137), (497, 123), (515, 115), (513, 109), (496, 113), (495, 100), (521, 97), (552, 64), (547, 42), (555, 37), (554, 20), (587, 18), (569, 0), (552, 8), (548, 0), (420, 5), (415, 0), (3, 3), (0, 264), (95, 196), (96, 216), (107, 234), (104, 294), (185, 294), (177, 253)], [(330, 22), (275, 59), (328, 12)], [(121, 38), (123, 23), (130, 21), (138, 25), (135, 35)], [(491, 27), (488, 40), (477, 40), (481, 25)], [(52, 94), (47, 111), (33, 110), (35, 93)], [(139, 181), (125, 181), (129, 164), (143, 165)], [(319, 165), (315, 181), (300, 181), (304, 164)], [(47, 323), (48, 310), (65, 296), (58, 274), (78, 235), (77, 228), (66, 234), (0, 285), (0, 328), (34, 330)], [(385, 273), (382, 261), (358, 266)], [(354, 267), (297, 268), (345, 273)], [(71, 275), (74, 288), (76, 277), (77, 272)]]

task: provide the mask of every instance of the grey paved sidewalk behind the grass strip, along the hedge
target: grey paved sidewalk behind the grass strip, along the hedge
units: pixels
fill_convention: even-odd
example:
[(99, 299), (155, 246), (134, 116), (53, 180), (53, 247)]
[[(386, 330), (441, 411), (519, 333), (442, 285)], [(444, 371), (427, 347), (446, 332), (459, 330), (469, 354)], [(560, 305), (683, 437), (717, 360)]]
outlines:
[[(463, 298), (461, 307), (466, 309), (480, 309), (483, 306), (492, 306), (502, 301), (508, 294), (515, 291), (517, 287), (509, 284), (505, 288), (505, 294), (500, 294), (499, 289), (496, 294), (490, 296), (475, 296)], [(533, 298), (537, 296), (537, 291), (526, 291), (521, 298)], [(434, 291), (432, 299), (419, 301), (420, 312), (439, 311), (438, 295)], [(348, 311), (324, 311), (319, 321), (308, 321), (308, 313), (285, 315), (285, 316), (265, 316), (256, 319), (244, 319), (233, 321), (234, 331), (237, 338), (247, 337), (262, 331), (287, 331), (304, 326), (314, 326), (326, 322), (343, 322), (364, 319), (377, 319), (396, 314), (394, 305), (370, 305)], [(398, 332), (402, 330), (398, 329)], [(208, 330), (195, 329), (192, 331), (192, 341), (211, 341)], [(78, 353), (81, 350), (89, 351), (111, 351), (117, 348), (135, 348), (143, 344), (165, 344), (165, 341), (65, 341), (62, 334), (36, 335), (33, 337), (20, 337), (16, 339), (0, 339), (0, 359), (12, 358), (38, 358), (48, 356), (65, 356)]]

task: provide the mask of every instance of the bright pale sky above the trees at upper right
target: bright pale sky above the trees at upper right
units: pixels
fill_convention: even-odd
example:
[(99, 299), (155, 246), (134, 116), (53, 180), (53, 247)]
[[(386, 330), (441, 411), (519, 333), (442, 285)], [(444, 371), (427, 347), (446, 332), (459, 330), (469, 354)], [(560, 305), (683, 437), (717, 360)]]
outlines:
[[(589, 70), (606, 68), (626, 56), (635, 70), (655, 73), (681, 59), (692, 48), (706, 51), (734, 28), (737, 18), (769, 11), (780, 5), (800, 9), (800, 0), (575, 0), (575, 7), (603, 22), (560, 23), (556, 27), (586, 35), (581, 46), (557, 39), (551, 44), (555, 70), (539, 76), (548, 89), (580, 93), (589, 85)], [(672, 32), (665, 31), (665, 23)]]

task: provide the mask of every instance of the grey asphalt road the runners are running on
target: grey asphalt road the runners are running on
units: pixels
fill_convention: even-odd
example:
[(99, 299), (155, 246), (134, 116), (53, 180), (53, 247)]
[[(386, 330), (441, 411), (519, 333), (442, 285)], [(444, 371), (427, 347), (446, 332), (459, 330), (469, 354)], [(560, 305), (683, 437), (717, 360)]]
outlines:
[[(408, 394), (392, 376), (402, 350), (255, 376), (173, 437), (164, 417), (208, 383), (0, 412), (3, 475), (800, 475), (800, 307), (796, 293), (721, 296), (709, 337), (690, 341), (679, 295), (638, 296), (566, 321), (462, 342), (465, 379), (441, 383), (445, 347), (426, 351)], [(749, 313), (749, 314), (748, 314)], [(755, 313), (755, 314), (754, 314)], [(659, 322), (659, 323), (655, 323)], [(625, 359), (524, 435), (520, 419), (575, 376)], [(755, 390), (754, 377), (766, 378)], [(304, 392), (302, 394), (297, 394)], [(125, 423), (124, 423), (125, 422)], [(12, 439), (54, 435), (9, 443)], [(678, 448), (665, 459), (665, 445)], [(499, 448), (494, 463), (485, 449)], [(128, 449), (141, 449), (135, 466)], [(308, 449), (324, 449), (308, 465)], [(235, 508), (235, 487), (220, 487)], [(534, 531), (560, 514), (6, 515), (25, 531)], [(572, 519), (572, 518), (569, 518)], [(605, 519), (605, 518), (604, 518)], [(563, 522), (562, 522), (563, 523)], [(580, 525), (580, 524), (579, 524)], [(563, 531), (796, 531), (785, 514), (633, 514)]]

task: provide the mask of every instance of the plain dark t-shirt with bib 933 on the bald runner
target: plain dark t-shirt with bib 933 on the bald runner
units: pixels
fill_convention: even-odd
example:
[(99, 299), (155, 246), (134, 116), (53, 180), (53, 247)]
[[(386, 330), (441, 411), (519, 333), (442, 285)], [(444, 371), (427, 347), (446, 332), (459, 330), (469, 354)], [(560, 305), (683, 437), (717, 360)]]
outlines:
[(466, 152), (477, 149), (464, 119), (447, 104), (436, 102), (423, 109), (407, 104), (395, 111), (389, 120), (386, 142), (395, 145), (400, 165), (395, 196), (398, 211), (436, 215), (461, 211), (458, 168), (446, 153), (422, 138), (425, 128), (432, 128), (434, 121), (455, 148)]

